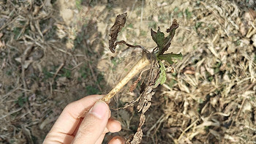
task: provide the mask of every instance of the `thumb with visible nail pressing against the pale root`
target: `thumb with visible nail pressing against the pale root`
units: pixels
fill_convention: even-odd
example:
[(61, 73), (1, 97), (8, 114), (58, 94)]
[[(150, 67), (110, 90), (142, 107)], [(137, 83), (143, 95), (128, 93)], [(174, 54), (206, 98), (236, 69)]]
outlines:
[(107, 126), (109, 114), (110, 110), (105, 102), (96, 102), (83, 118), (73, 143), (96, 143)]

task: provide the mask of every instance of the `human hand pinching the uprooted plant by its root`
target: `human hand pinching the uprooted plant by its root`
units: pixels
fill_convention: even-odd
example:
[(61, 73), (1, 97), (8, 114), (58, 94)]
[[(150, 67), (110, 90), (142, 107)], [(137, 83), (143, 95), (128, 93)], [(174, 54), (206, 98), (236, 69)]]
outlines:
[[(101, 98), (101, 95), (86, 96), (67, 105), (43, 143), (98, 144), (102, 143), (107, 132), (119, 132), (120, 122), (110, 118), (110, 109), (99, 100)], [(121, 144), (124, 140), (113, 137), (109, 143)]]

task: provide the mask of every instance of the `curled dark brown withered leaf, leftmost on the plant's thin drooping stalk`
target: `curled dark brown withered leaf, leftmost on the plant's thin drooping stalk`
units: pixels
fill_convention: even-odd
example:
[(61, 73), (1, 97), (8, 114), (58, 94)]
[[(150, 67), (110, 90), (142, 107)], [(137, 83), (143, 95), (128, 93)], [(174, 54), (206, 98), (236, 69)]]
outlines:
[(109, 40), (109, 49), (112, 53), (115, 53), (115, 50), (116, 50), (115, 42), (116, 42), (118, 33), (121, 31), (122, 28), (124, 28), (124, 25), (126, 22), (127, 22), (127, 12), (117, 15), (114, 25), (110, 28), (111, 39)]

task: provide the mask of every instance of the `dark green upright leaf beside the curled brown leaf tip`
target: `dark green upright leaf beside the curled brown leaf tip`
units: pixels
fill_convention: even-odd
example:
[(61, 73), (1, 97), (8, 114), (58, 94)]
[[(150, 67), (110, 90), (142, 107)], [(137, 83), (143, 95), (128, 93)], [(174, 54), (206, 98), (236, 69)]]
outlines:
[(151, 37), (154, 40), (154, 42), (157, 43), (159, 51), (161, 51), (165, 44), (165, 34), (161, 32), (159, 28), (157, 32), (151, 29)]

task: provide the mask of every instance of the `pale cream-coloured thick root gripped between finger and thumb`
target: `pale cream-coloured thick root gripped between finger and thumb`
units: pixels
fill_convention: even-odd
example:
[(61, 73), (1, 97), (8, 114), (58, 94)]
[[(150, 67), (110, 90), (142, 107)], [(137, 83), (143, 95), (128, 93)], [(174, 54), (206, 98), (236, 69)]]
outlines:
[(140, 58), (140, 60), (135, 64), (134, 67), (132, 67), (131, 70), (127, 73), (127, 75), (118, 82), (118, 84), (113, 88), (107, 95), (105, 95), (102, 98), (102, 101), (108, 102), (115, 94), (118, 93), (118, 91), (121, 90), (128, 82), (132, 79), (135, 75), (138, 74), (144, 67), (146, 67), (148, 64), (151, 64), (151, 61), (146, 56), (147, 53), (143, 53), (143, 57)]

